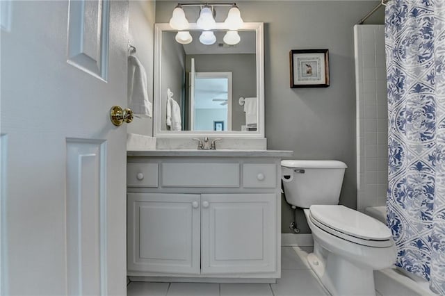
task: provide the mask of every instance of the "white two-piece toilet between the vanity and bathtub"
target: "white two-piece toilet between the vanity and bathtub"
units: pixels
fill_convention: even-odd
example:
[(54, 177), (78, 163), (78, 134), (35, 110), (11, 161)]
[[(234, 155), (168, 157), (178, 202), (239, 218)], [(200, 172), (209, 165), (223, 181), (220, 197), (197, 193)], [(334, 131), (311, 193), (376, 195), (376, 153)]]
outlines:
[(303, 208), (314, 238), (307, 261), (332, 295), (375, 295), (373, 270), (396, 261), (391, 231), (382, 222), (339, 205), (346, 164), (281, 162), (286, 201)]

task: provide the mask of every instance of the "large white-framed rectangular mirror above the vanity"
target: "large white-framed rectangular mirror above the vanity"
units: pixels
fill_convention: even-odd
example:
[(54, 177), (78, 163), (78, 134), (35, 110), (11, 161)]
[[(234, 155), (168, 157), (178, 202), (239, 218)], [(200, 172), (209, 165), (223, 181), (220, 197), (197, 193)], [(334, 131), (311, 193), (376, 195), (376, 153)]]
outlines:
[(245, 23), (233, 46), (226, 31), (218, 23), (204, 45), (191, 24), (193, 42), (179, 44), (169, 24), (155, 24), (155, 137), (264, 138), (263, 24)]

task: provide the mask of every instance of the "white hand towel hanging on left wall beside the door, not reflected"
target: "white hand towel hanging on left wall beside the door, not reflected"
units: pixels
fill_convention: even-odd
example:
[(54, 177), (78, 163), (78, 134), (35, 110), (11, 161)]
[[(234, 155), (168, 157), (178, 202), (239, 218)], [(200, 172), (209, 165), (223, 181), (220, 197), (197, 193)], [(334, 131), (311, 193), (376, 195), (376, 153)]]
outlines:
[(136, 56), (128, 57), (127, 96), (134, 115), (152, 117), (152, 103), (148, 99), (147, 74)]

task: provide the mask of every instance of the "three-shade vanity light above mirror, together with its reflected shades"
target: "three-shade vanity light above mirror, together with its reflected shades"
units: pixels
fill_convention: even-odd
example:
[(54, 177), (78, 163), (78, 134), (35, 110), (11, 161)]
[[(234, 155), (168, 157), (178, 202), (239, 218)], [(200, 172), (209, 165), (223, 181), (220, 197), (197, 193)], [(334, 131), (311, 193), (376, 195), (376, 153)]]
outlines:
[(196, 25), (203, 31), (200, 35), (200, 42), (207, 45), (216, 42), (215, 34), (211, 31), (216, 28), (215, 6), (231, 6), (227, 18), (224, 21), (224, 27), (227, 28), (228, 31), (223, 40), (229, 45), (238, 44), (241, 41), (237, 30), (243, 26), (244, 22), (236, 3), (178, 3), (175, 10), (173, 10), (172, 18), (169, 23), (172, 28), (179, 31), (175, 38), (177, 42), (188, 44), (193, 40), (192, 36), (187, 31), (190, 25), (186, 19), (186, 14), (183, 9), (184, 6), (200, 6), (200, 17), (197, 19)]

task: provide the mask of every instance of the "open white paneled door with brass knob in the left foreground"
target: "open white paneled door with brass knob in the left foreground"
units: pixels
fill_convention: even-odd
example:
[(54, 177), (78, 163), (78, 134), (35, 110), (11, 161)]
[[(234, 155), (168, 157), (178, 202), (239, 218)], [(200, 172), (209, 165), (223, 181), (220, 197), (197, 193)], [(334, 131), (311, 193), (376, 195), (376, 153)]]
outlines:
[(1, 295), (125, 295), (127, 1), (1, 1)]

